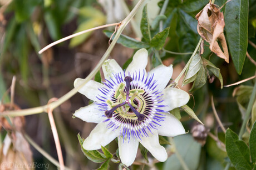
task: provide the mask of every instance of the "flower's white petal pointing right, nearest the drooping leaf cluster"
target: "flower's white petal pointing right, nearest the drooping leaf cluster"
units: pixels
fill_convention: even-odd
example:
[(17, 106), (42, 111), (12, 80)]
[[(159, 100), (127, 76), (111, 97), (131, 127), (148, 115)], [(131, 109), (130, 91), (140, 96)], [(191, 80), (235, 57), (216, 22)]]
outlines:
[(169, 111), (177, 107), (184, 106), (189, 101), (189, 94), (186, 91), (176, 88), (166, 88), (163, 90), (163, 99), (161, 103), (168, 107), (163, 107), (163, 110)]

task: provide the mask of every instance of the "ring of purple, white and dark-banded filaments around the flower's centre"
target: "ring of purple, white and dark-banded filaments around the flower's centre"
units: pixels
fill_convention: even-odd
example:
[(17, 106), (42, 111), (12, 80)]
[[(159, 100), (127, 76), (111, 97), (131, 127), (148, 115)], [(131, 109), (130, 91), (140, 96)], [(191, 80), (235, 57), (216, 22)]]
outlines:
[[(107, 101), (110, 100), (112, 103), (118, 103), (119, 100), (115, 98), (115, 92), (117, 87), (124, 83), (124, 94), (126, 94), (126, 100), (117, 104), (114, 107), (107, 105)], [(120, 130), (120, 135), (128, 140), (130, 138), (147, 137), (152, 133), (152, 129), (157, 130), (157, 127), (161, 126), (161, 122), (164, 121), (165, 115), (161, 112), (166, 112), (161, 107), (165, 107), (161, 102), (163, 102), (163, 94), (161, 91), (157, 90), (157, 80), (154, 79), (154, 74), (147, 75), (146, 71), (137, 71), (134, 74), (128, 73), (118, 73), (113, 74), (112, 78), (104, 82), (105, 87), (101, 87), (99, 90), (101, 95), (96, 96), (99, 102), (96, 102), (97, 109), (103, 111), (107, 119), (107, 128), (115, 131)], [(134, 99), (132, 101), (137, 107), (140, 106), (142, 109), (136, 109), (129, 102), (131, 95), (129, 92), (132, 89), (143, 90), (139, 97), (141, 100), (137, 101)], [(128, 108), (126, 113), (121, 110)], [(127, 112), (130, 115), (127, 116)]]

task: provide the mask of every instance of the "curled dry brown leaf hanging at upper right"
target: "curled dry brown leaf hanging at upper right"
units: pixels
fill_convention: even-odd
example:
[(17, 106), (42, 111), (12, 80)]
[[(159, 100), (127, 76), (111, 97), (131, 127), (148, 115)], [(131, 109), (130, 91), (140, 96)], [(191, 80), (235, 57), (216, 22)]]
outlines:
[[(210, 44), (210, 50), (229, 63), (228, 47), (223, 33), (225, 26), (223, 12), (220, 12), (215, 4), (208, 3), (202, 11), (196, 14), (195, 18), (198, 20), (198, 33)], [(217, 39), (224, 53), (219, 47)]]

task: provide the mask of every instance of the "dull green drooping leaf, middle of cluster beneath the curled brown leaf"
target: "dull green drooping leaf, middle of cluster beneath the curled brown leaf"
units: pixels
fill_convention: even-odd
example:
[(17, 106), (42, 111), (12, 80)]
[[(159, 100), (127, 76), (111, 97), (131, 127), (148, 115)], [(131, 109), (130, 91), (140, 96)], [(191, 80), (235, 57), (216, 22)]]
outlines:
[[(203, 61), (201, 61), (201, 65), (203, 65)], [(200, 70), (198, 71), (198, 73), (196, 74), (196, 78), (194, 81), (193, 86), (191, 87), (190, 91), (194, 91), (197, 89), (200, 89), (201, 87), (204, 86), (204, 84), (206, 83), (207, 77), (206, 77), (206, 71), (204, 66), (200, 67)]]

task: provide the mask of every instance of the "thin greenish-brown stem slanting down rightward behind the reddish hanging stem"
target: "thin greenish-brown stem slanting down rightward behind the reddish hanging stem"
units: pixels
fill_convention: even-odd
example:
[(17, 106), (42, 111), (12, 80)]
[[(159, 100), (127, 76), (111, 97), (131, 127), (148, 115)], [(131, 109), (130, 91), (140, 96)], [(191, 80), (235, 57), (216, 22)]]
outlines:
[[(38, 152), (40, 152), (45, 158), (48, 159), (52, 164), (54, 164), (56, 167), (60, 168), (60, 163), (56, 161), (55, 158), (53, 158), (50, 154), (48, 154), (45, 150), (43, 150), (40, 146), (37, 145), (35, 141), (32, 140), (27, 134), (24, 134), (24, 137), (28, 141), (30, 145), (32, 145)], [(66, 170), (71, 170), (70, 168), (65, 167)]]

